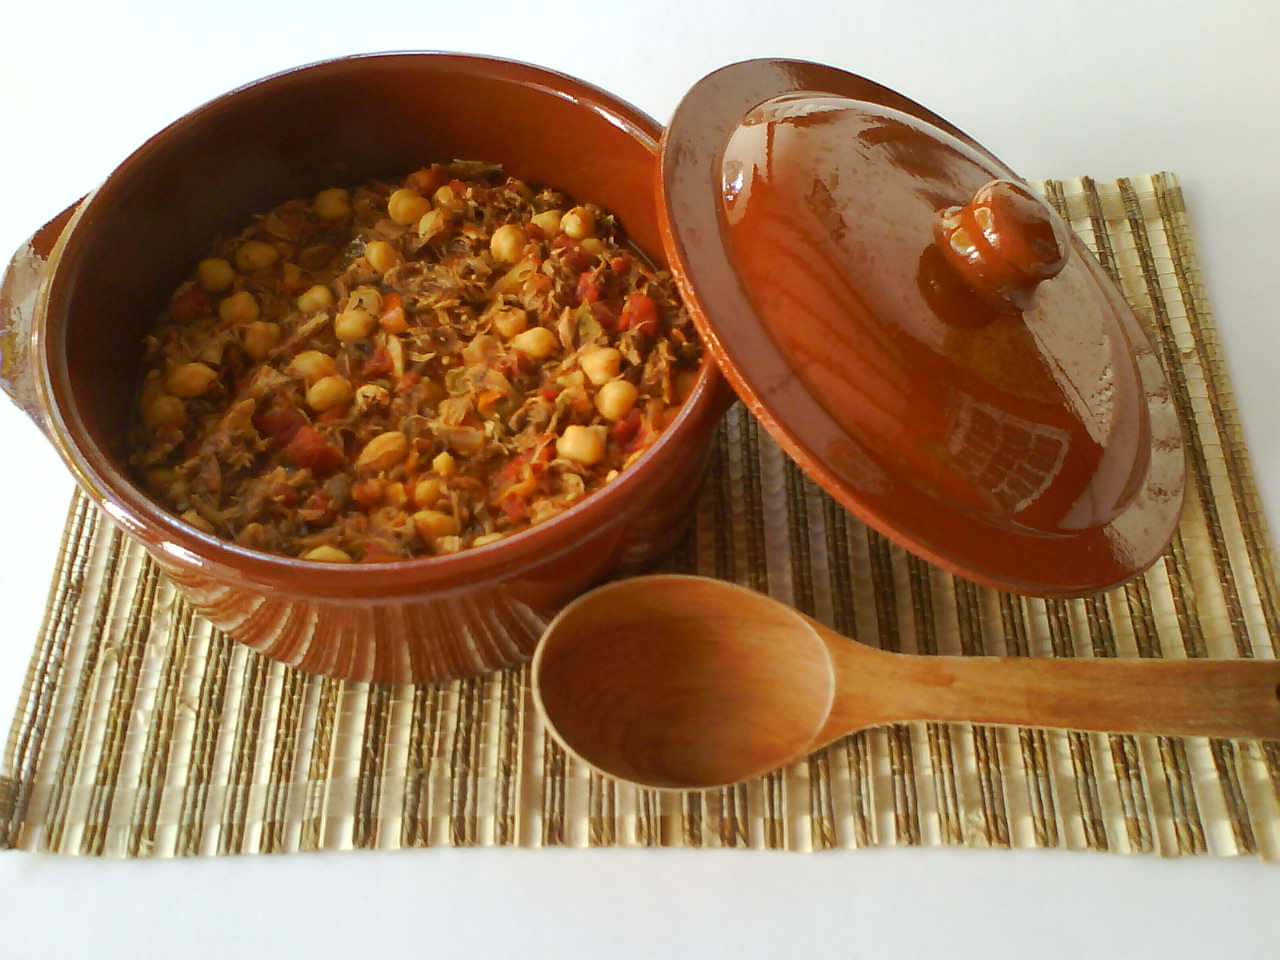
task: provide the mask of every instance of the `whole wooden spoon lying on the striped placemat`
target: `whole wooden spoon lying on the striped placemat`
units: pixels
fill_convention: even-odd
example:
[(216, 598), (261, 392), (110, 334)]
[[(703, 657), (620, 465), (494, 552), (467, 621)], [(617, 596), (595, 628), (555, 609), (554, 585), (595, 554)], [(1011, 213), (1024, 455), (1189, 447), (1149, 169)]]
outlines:
[(718, 580), (622, 580), (534, 654), (552, 733), (596, 769), (703, 790), (908, 721), (1280, 739), (1280, 662), (911, 657)]

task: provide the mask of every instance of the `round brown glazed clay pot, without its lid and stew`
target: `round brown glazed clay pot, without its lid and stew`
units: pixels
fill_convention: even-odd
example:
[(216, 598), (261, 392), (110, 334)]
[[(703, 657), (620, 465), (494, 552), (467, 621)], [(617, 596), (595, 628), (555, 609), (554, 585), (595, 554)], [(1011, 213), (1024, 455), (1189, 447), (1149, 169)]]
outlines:
[[(431, 160), (498, 161), (590, 198), (663, 262), (659, 133), (594, 87), (486, 58), (360, 56), (250, 84), (159, 133), (88, 197), (51, 251), (33, 316), (0, 303), (6, 357), (10, 340), (26, 342), (18, 328), (32, 326), (35, 384), (14, 378), (6, 358), (5, 388), (19, 403), (38, 396), (41, 425), (79, 484), (237, 640), (308, 671), (393, 684), (517, 663), (547, 616), (682, 532), (732, 397), (709, 361), (649, 454), (553, 521), (448, 557), (352, 567), (218, 541), (133, 485), (123, 438), (140, 343), (211, 237), (291, 197)], [(20, 251), (10, 275), (45, 269), (45, 252)]]

